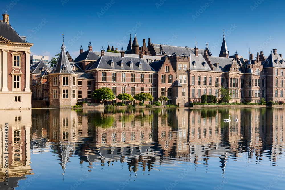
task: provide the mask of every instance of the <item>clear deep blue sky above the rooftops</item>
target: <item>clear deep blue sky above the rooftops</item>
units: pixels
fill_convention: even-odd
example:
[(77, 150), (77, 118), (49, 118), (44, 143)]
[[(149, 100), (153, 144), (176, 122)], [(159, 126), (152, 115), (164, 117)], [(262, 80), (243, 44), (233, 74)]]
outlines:
[(195, 47), (197, 37), (198, 48), (208, 42), (218, 56), (225, 29), (230, 55), (237, 51), (247, 58), (247, 44), (255, 54), (263, 51), (268, 56), (274, 48), (285, 54), (284, 1), (4, 0), (0, 4), (1, 12), (8, 7), (10, 24), (19, 35), (31, 36), (27, 40), (34, 44), (33, 54), (50, 58), (60, 52), (62, 33), (76, 58), (81, 44), (84, 51), (88, 49), (89, 40), (95, 51), (102, 44), (107, 48), (108, 42), (126, 50), (130, 30), (132, 39), (137, 33), (140, 46), (143, 38), (151, 38), (152, 43)]

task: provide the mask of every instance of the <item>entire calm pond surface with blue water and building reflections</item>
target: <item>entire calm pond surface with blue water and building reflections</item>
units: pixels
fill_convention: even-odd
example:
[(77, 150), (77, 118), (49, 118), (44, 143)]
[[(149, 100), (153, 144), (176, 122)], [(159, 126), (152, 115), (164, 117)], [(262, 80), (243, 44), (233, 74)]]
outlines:
[(283, 108), (1, 111), (0, 189), (284, 189), (284, 114)]

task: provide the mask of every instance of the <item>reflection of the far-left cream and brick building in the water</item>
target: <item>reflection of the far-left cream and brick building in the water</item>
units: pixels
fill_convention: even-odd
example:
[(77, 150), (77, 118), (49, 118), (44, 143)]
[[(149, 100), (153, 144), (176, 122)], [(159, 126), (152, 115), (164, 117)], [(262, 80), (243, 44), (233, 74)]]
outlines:
[[(0, 187), (1, 189), (13, 189), (18, 187), (18, 181), (31, 175), (30, 166), (30, 130), (32, 126), (31, 110), (9, 110), (1, 111), (1, 140), (0, 140)], [(9, 123), (8, 150), (5, 149), (5, 124)], [(8, 154), (5, 154), (8, 153)], [(6, 156), (8, 156), (8, 167), (5, 169)], [(4, 185), (5, 174), (8, 170), (9, 186)]]

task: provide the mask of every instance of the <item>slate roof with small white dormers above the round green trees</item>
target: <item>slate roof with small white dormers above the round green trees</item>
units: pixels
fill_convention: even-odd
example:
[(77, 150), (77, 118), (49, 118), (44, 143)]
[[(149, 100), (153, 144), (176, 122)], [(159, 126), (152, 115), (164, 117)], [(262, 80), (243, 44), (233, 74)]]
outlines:
[[(111, 60), (114, 61), (114, 66), (111, 66)], [(123, 67), (121, 67), (121, 61), (123, 61)], [(130, 62), (133, 62), (133, 67), (130, 67)], [(142, 63), (142, 67), (139, 68), (139, 63)], [(101, 56), (97, 61), (91, 62), (86, 70), (91, 69), (116, 69), (116, 70), (135, 70), (135, 71), (154, 71), (143, 59), (136, 57), (121, 57), (105, 55)]]

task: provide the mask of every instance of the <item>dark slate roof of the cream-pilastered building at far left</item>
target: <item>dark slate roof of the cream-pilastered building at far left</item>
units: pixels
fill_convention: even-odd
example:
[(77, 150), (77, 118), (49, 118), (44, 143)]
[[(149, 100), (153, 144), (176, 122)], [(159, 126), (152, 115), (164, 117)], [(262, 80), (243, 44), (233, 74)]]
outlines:
[(10, 24), (0, 22), (0, 36), (17, 43), (29, 43), (19, 36)]

